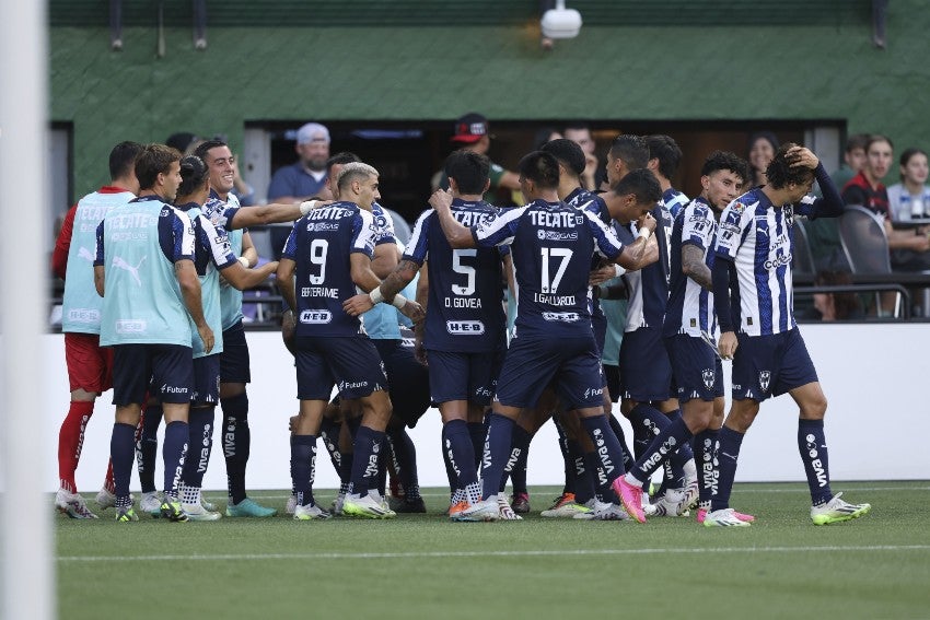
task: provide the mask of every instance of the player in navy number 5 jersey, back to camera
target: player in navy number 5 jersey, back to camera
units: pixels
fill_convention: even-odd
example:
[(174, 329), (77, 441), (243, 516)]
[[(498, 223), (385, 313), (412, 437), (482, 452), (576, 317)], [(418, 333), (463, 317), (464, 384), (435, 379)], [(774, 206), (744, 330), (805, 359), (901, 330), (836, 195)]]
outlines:
[[(483, 200), (490, 161), (474, 151), (454, 151), (444, 174), (452, 190), (451, 212), (463, 225), (493, 218), (498, 209)], [(490, 405), (505, 349), (501, 255), (498, 248), (453, 249), (435, 211), (425, 211), (397, 269), (380, 286), (393, 297), (426, 265), (427, 317), (418, 329), (429, 362), (430, 394), (442, 416), (442, 445), (455, 473), (449, 516), (457, 519), (481, 499), (467, 422)], [(357, 315), (372, 306), (369, 295), (346, 302)]]

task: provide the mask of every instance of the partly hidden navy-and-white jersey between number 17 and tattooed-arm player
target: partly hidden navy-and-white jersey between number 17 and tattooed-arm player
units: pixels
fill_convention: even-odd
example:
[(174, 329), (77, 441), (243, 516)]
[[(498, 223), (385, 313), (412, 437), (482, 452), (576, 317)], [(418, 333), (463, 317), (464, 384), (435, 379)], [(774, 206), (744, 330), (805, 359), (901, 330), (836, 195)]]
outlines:
[[(669, 302), (669, 235), (672, 231), (672, 217), (661, 204), (656, 204), (650, 212), (656, 223), (659, 260), (639, 271), (624, 273), (629, 291), (626, 331), (636, 331), (640, 327), (661, 328)], [(639, 232), (636, 222), (621, 226), (621, 230), (623, 233), (618, 236), (624, 243), (632, 243)]]

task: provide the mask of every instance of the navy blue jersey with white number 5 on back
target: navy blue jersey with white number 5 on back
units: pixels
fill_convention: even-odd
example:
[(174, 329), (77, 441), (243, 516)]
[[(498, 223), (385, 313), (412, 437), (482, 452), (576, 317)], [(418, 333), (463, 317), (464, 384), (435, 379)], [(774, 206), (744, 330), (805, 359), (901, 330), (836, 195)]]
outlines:
[[(475, 226), (497, 214), (487, 202), (452, 200), (452, 217)], [(428, 261), (429, 303), (423, 344), (433, 351), (477, 353), (503, 346), (501, 255), (497, 248), (452, 249), (435, 211), (425, 211), (410, 235), (404, 258)]]

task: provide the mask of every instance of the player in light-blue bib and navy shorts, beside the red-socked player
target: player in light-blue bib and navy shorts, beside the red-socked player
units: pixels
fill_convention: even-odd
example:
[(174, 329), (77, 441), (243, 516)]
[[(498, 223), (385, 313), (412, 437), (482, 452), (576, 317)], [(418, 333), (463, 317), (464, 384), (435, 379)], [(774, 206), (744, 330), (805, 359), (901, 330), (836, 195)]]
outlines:
[(179, 161), (174, 149), (146, 147), (136, 160), (139, 198), (112, 209), (97, 226), (94, 283), (104, 297), (101, 346), (114, 348), (116, 422), (111, 457), (119, 522), (139, 518), (129, 496), (129, 477), (136, 425), (150, 385), (155, 386), (167, 422), (160, 511), (170, 520), (187, 520), (178, 488), (194, 386), (188, 315), (205, 351), (213, 348), (214, 337), (200, 302), (190, 220), (170, 204), (182, 180)]

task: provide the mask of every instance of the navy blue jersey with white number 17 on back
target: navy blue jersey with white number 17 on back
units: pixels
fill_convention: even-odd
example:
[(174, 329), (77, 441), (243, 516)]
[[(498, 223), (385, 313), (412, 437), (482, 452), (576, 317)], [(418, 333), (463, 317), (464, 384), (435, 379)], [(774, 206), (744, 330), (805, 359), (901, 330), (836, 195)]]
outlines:
[(501, 211), (472, 229), (479, 246), (511, 245), (516, 283), (514, 337), (592, 334), (588, 279), (595, 253), (615, 260), (623, 244), (604, 222), (565, 202)]

